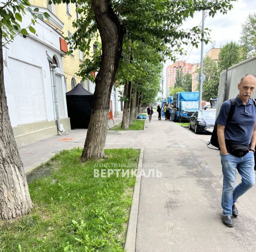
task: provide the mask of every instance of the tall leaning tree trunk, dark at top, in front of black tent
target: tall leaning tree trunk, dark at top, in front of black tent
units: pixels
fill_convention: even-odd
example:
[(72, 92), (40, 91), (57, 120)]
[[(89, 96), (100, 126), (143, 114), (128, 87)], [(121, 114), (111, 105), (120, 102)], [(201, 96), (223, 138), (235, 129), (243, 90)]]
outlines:
[(92, 0), (95, 20), (101, 36), (102, 58), (95, 79), (94, 102), (82, 160), (104, 157), (110, 95), (123, 49), (125, 27), (114, 13), (110, 0)]

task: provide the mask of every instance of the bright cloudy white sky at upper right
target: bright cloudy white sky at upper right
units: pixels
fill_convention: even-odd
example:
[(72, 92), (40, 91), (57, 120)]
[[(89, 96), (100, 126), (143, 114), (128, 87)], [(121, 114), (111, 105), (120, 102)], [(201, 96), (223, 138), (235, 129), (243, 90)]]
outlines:
[[(220, 48), (225, 43), (232, 41), (239, 42), (240, 33), (242, 30), (242, 23), (246, 21), (249, 13), (256, 12), (256, 1), (255, 0), (238, 0), (233, 2), (233, 9), (228, 11), (227, 14), (216, 13), (212, 18), (207, 16), (204, 20), (204, 27), (211, 29), (210, 38), (212, 42), (216, 40), (215, 48)], [(192, 28), (198, 26), (202, 20), (202, 12), (195, 13), (193, 18), (188, 18), (183, 23), (182, 28)], [(188, 46), (185, 47), (187, 50)], [(212, 48), (212, 43), (209, 42), (207, 45), (204, 44), (204, 55)], [(188, 48), (188, 54), (192, 49), (192, 45)], [(181, 56), (181, 60), (186, 60), (187, 63), (198, 63), (200, 62), (201, 55), (201, 44), (197, 48), (193, 48), (191, 54), (188, 56)], [(167, 60), (164, 66), (164, 76), (166, 73), (166, 67), (171, 65), (172, 61)], [(165, 83), (165, 82), (164, 82)]]

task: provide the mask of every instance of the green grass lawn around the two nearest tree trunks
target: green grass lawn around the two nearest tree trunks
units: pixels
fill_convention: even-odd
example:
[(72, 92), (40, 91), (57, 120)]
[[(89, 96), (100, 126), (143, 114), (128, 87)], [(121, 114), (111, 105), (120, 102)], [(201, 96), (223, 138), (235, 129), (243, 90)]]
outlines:
[(81, 152), (64, 150), (27, 176), (34, 210), (0, 220), (0, 251), (124, 251), (135, 177), (94, 177), (94, 169), (137, 164), (140, 150), (107, 149), (106, 159), (85, 163)]

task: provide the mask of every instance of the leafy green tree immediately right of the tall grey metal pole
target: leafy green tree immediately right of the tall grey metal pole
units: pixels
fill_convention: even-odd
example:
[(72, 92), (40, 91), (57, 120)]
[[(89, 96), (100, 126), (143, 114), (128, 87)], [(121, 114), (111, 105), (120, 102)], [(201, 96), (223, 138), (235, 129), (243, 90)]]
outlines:
[[(197, 71), (200, 72), (199, 69)], [(208, 55), (203, 59), (203, 73), (206, 75), (206, 80), (203, 82), (202, 99), (208, 102), (210, 98), (218, 97), (220, 76), (216, 62)], [(197, 90), (199, 90), (199, 83)]]

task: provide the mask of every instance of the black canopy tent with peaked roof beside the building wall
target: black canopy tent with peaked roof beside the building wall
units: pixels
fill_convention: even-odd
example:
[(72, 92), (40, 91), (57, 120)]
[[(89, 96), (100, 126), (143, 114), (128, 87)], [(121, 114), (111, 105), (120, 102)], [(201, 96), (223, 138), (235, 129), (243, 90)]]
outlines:
[(68, 117), (72, 128), (88, 128), (94, 95), (86, 91), (81, 84), (66, 93)]

